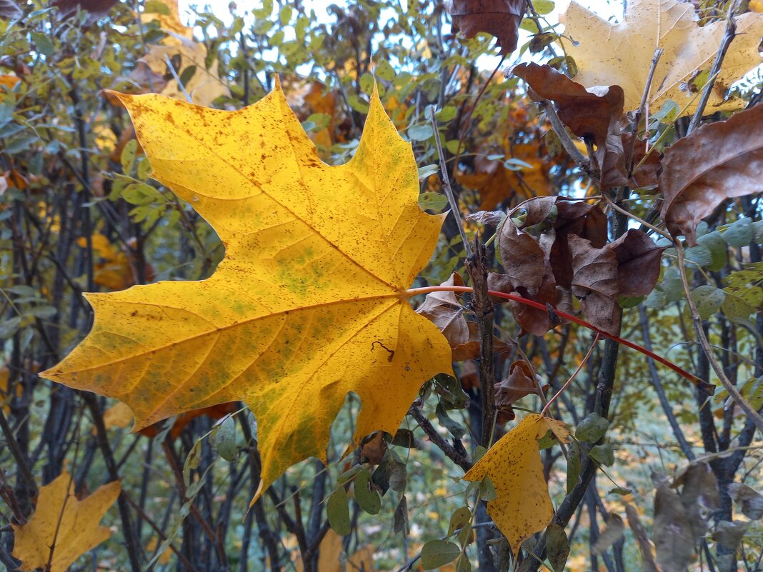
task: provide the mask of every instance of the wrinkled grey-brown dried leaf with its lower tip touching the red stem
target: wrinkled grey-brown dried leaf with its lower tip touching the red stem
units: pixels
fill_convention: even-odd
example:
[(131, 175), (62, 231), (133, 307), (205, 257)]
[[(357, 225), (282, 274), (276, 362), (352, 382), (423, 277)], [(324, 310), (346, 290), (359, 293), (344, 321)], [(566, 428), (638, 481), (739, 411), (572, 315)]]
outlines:
[(572, 294), (581, 300), (585, 317), (604, 332), (620, 333), (617, 304), (617, 255), (612, 249), (597, 249), (580, 236), (568, 237), (572, 255)]

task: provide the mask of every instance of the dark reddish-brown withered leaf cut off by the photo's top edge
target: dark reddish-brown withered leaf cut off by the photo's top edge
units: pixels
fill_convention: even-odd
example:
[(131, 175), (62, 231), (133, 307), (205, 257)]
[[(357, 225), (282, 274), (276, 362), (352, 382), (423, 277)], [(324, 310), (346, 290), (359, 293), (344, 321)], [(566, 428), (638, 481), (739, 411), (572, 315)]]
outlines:
[(517, 48), (517, 29), (524, 15), (525, 0), (446, 0), (445, 9), (453, 19), (453, 31), (465, 37), (479, 32), (494, 35), (501, 54)]

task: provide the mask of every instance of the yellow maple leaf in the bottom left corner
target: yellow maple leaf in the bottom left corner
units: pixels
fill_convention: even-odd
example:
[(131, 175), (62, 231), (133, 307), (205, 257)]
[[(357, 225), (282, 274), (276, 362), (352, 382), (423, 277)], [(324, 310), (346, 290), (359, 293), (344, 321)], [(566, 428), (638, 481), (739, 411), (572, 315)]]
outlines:
[(121, 488), (120, 481), (114, 480), (77, 500), (74, 482), (66, 471), (40, 487), (32, 518), (24, 525), (11, 523), (15, 535), (13, 555), (21, 561), (19, 570), (46, 567), (50, 561), (50, 572), (65, 572), (82, 554), (105, 541), (111, 530), (98, 522), (117, 500)]

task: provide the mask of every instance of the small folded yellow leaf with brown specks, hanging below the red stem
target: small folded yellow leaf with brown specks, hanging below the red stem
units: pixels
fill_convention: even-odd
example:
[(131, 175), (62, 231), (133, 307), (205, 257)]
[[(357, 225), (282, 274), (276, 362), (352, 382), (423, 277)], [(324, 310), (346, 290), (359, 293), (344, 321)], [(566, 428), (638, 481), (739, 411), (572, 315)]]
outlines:
[(490, 477), (497, 498), (488, 502), (488, 514), (515, 555), (522, 541), (545, 529), (554, 516), (538, 446), (549, 429), (562, 441), (569, 435), (561, 421), (535, 413), (525, 416), (463, 477), (469, 481)]

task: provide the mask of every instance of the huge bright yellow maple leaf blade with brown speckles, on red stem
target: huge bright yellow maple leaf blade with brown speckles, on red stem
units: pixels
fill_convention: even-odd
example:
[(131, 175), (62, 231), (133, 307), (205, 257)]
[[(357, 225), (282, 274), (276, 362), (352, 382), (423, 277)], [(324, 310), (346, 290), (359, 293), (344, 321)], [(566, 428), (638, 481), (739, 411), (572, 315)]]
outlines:
[(418, 206), (410, 147), (378, 95), (355, 157), (329, 166), (277, 85), (240, 111), (119, 96), (153, 176), (190, 201), (226, 246), (204, 281), (87, 294), (89, 336), (43, 377), (115, 397), (141, 429), (243, 400), (256, 416), (264, 490), (326, 458), (345, 396), (362, 400), (353, 442), (393, 432), (420, 384), (450, 372), (439, 329), (406, 288), (442, 217)]

